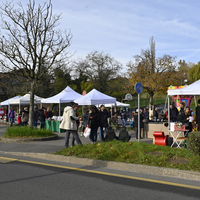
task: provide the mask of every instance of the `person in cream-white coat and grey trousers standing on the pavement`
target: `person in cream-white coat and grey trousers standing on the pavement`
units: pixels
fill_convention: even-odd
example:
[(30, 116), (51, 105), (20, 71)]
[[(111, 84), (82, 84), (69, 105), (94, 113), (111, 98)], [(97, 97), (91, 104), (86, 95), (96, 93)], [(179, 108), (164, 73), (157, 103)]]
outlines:
[(75, 112), (73, 109), (74, 102), (70, 102), (67, 107), (64, 108), (63, 112), (63, 120), (60, 124), (60, 129), (66, 130), (66, 136), (65, 136), (65, 147), (69, 147), (69, 137), (70, 133), (74, 136), (74, 139), (76, 140), (77, 144), (82, 145), (82, 142), (78, 136), (77, 132), (77, 125), (76, 120), (78, 120), (78, 117), (75, 116)]

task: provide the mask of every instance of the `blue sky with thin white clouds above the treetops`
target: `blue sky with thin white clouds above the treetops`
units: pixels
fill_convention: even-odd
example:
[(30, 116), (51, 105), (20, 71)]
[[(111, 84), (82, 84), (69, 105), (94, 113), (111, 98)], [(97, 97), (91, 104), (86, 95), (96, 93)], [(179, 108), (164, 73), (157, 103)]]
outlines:
[(60, 28), (73, 34), (73, 59), (103, 51), (126, 69), (154, 36), (156, 57), (169, 54), (177, 60), (200, 61), (199, 0), (52, 0), (52, 4), (54, 14), (62, 13)]

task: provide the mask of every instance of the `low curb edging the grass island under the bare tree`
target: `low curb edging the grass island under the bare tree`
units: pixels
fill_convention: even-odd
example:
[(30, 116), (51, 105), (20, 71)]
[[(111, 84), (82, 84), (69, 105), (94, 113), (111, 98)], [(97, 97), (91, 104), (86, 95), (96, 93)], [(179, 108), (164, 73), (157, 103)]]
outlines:
[(29, 141), (47, 141), (47, 140), (57, 140), (58, 135), (42, 138), (24, 138), (24, 139), (12, 139), (12, 138), (0, 138), (2, 142), (29, 142)]

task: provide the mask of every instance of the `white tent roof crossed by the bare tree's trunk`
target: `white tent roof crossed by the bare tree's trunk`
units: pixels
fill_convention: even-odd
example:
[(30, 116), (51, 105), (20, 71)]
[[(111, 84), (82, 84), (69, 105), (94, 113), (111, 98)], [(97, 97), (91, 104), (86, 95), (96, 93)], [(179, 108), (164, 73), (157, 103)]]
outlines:
[[(37, 95), (34, 96), (34, 103), (41, 103), (41, 100), (43, 98), (38, 97)], [(18, 98), (18, 99), (13, 99), (9, 101), (9, 104), (22, 104), (22, 105), (28, 105), (30, 104), (30, 94), (25, 94), (24, 96)]]

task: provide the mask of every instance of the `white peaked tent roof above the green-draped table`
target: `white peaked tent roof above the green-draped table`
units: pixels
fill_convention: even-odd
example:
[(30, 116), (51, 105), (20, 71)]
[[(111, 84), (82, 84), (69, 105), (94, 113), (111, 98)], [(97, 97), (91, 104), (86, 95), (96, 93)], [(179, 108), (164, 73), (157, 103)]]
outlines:
[(82, 97), (81, 94), (72, 90), (69, 86), (67, 86), (62, 92), (59, 94), (49, 97), (47, 99), (42, 99), (42, 103), (68, 103), (70, 101), (74, 101)]

